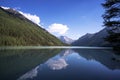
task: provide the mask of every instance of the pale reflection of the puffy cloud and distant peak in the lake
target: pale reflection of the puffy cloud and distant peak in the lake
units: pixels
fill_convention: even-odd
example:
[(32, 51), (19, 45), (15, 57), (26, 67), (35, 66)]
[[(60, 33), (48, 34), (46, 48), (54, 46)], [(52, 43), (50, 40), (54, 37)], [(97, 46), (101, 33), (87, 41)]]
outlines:
[(59, 53), (57, 59), (51, 58), (46, 62), (47, 66), (52, 70), (61, 70), (65, 69), (68, 66), (68, 63), (66, 62), (66, 57), (69, 56), (72, 53), (72, 50), (67, 49), (63, 50), (61, 53)]

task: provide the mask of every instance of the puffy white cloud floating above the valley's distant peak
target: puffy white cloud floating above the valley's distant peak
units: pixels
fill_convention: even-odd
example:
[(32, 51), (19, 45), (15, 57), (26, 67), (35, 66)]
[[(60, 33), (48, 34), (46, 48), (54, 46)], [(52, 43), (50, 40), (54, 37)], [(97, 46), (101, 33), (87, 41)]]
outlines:
[(69, 28), (67, 25), (54, 23), (54, 24), (51, 24), (47, 30), (50, 33), (57, 33), (62, 35), (62, 34), (65, 34), (68, 31), (68, 29)]

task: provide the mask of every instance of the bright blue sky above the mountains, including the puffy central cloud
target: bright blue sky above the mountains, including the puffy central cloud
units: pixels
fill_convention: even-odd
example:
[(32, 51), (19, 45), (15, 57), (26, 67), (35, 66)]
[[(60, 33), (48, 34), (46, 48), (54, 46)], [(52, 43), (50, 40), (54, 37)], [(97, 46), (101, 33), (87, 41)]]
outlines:
[(40, 25), (56, 36), (78, 39), (103, 29), (104, 0), (0, 0), (0, 6), (16, 8), (40, 18)]

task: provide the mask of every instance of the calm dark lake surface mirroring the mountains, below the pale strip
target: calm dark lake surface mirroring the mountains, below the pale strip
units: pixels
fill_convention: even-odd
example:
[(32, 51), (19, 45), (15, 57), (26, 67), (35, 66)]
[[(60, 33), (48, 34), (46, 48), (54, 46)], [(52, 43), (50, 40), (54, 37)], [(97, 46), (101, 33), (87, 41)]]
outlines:
[(103, 48), (1, 49), (0, 80), (120, 80), (120, 55)]

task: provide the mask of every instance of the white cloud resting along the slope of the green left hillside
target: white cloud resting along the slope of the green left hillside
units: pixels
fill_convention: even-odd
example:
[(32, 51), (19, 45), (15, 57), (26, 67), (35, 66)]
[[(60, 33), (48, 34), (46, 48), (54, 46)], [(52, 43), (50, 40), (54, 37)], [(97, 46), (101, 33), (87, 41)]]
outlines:
[(32, 15), (30, 13), (24, 13), (22, 11), (19, 11), (22, 15), (24, 15), (26, 18), (31, 20), (32, 22), (36, 23), (37, 25), (40, 26), (40, 17), (37, 15)]

